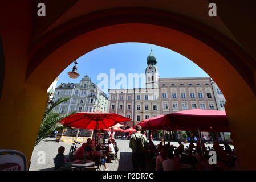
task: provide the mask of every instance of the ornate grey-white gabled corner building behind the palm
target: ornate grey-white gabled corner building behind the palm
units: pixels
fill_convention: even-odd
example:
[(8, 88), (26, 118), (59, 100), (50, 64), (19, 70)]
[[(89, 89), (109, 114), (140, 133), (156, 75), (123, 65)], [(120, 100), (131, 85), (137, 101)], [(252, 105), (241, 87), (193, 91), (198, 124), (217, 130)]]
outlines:
[(78, 83), (61, 83), (54, 93), (54, 101), (63, 98), (70, 98), (66, 102), (55, 107), (55, 112), (59, 114), (68, 114), (73, 111), (77, 112), (106, 112), (108, 106), (107, 95), (92, 83), (86, 75)]

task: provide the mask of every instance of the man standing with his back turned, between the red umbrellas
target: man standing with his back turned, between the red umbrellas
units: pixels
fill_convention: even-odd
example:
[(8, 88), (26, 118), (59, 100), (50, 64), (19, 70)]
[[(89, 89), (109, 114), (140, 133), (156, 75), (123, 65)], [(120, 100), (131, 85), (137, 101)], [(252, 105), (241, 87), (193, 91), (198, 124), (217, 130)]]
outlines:
[(148, 147), (147, 138), (141, 134), (141, 126), (136, 126), (136, 133), (131, 136), (129, 147), (132, 149), (133, 171), (145, 171), (145, 149)]

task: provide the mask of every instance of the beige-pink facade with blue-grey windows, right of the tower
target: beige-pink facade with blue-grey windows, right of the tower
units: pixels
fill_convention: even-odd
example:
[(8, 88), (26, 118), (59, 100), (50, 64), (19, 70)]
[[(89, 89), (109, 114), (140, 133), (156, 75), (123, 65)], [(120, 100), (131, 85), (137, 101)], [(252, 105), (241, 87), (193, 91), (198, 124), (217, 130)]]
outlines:
[(210, 77), (159, 78), (160, 112), (217, 110)]

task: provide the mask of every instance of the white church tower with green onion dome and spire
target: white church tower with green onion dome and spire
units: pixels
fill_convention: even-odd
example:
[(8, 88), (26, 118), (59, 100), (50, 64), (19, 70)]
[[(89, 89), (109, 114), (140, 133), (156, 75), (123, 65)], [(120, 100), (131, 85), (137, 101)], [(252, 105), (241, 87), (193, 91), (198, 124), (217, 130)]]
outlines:
[(152, 49), (150, 55), (147, 57), (148, 67), (145, 71), (145, 87), (146, 88), (159, 88), (159, 71), (156, 65), (156, 57), (152, 53)]

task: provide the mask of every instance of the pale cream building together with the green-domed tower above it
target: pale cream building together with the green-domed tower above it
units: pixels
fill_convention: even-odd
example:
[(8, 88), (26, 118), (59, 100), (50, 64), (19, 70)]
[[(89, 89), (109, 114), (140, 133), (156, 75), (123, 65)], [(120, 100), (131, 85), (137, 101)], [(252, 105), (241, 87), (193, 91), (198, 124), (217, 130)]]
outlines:
[(108, 90), (108, 111), (132, 119), (123, 123), (124, 129), (160, 114), (159, 71), (156, 63), (156, 57), (151, 50), (145, 69), (145, 88)]

